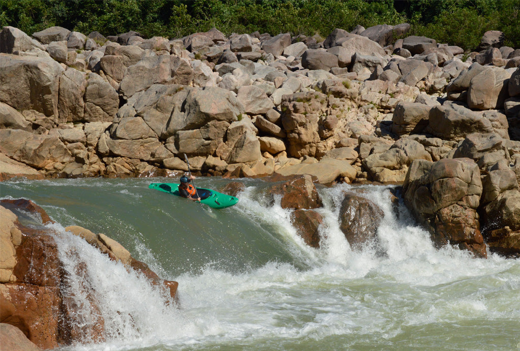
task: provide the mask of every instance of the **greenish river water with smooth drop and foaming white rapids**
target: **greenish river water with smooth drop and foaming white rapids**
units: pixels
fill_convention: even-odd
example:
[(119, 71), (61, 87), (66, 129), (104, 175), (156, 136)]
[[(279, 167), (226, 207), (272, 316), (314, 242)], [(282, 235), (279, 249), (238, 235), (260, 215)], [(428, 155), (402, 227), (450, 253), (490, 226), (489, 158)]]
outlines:
[[(315, 249), (297, 235), (290, 210), (268, 205), (262, 180), (241, 180), (239, 203), (223, 210), (148, 189), (161, 181), (1, 184), (2, 198), (32, 199), (59, 223), (67, 296), (76, 299), (83, 328), (105, 319), (105, 343), (87, 336), (62, 349), (520, 349), (520, 260), (435, 249), (406, 208), (393, 207), (389, 187), (320, 188), (323, 239)], [(197, 181), (212, 189), (228, 182)], [(384, 211), (378, 246), (346, 241), (338, 223), (344, 191)], [(180, 306), (66, 235), (68, 225), (107, 234), (161, 278), (178, 281)], [(86, 268), (78, 274), (80, 261)], [(92, 296), (79, 293), (81, 284)]]

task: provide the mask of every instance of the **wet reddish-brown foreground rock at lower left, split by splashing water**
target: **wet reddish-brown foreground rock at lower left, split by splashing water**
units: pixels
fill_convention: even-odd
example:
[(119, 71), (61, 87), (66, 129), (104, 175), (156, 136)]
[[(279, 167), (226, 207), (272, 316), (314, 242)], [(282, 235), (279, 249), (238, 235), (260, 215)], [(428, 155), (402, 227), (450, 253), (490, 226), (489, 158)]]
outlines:
[[(45, 211), (28, 200), (2, 200), (0, 213), (0, 299), (2, 309), (2, 345), (14, 343), (10, 337), (4, 339), (4, 324), (19, 329), (29, 341), (16, 336), (21, 349), (48, 349), (59, 345), (70, 345), (88, 336), (90, 340), (103, 341), (103, 319), (94, 300), (90, 300), (93, 316), (90, 321), (76, 320), (72, 300), (65, 298), (67, 274), (59, 259), (58, 247), (50, 229), (24, 227), (18, 221), (16, 211), (37, 214), (42, 224), (51, 222)], [(119, 243), (104, 234), (94, 234), (81, 227), (68, 228), (73, 234), (83, 237), (102, 254), (121, 261), (129, 269), (146, 275), (152, 284), (162, 284), (172, 298), (176, 296), (177, 283), (162, 281), (143, 262), (137, 261)], [(72, 235), (72, 234), (70, 234)], [(84, 289), (91, 289), (84, 284)], [(7, 329), (7, 328), (6, 328)], [(12, 331), (9, 335), (14, 335)], [(34, 346), (34, 343), (38, 347)], [(13, 344), (15, 345), (15, 344)], [(16, 347), (16, 345), (14, 346)], [(16, 349), (16, 348), (13, 348)]]

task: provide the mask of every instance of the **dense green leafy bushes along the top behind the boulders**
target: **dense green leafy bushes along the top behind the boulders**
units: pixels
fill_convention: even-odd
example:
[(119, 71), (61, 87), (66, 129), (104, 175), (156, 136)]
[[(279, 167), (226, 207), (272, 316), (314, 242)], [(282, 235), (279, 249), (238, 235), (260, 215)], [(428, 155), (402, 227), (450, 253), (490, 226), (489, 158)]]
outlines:
[(409, 35), (432, 37), (471, 51), (487, 30), (500, 30), (504, 45), (520, 48), (518, 0), (2, 0), (0, 26), (25, 33), (60, 26), (88, 34), (131, 30), (170, 38), (215, 27), (235, 33), (290, 32), (327, 36), (358, 24), (407, 22)]

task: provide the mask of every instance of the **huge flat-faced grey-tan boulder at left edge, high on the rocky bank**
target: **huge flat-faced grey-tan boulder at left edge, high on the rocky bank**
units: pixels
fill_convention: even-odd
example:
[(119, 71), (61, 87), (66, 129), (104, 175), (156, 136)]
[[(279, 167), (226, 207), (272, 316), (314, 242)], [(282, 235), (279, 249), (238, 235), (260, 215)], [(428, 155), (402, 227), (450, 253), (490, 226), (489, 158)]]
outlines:
[(51, 58), (0, 54), (0, 99), (17, 110), (57, 117), (63, 71)]

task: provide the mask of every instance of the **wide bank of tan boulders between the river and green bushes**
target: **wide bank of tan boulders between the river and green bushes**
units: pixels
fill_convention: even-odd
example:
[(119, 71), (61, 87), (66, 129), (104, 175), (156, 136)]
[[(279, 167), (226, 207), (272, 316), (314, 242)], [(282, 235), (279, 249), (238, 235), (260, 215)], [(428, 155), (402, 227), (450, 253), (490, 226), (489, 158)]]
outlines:
[[(482, 182), (478, 203), (472, 193), (461, 197), (471, 204), (412, 211), (441, 244), (485, 256), (478, 230), (493, 250), (518, 253), (510, 239), (519, 218), (520, 51), (496, 31), (464, 53), (407, 36), (409, 28), (335, 29), (324, 40), (212, 29), (168, 40), (4, 27), (0, 162), (8, 157), (11, 168), (1, 177), (168, 175), (187, 170), (186, 154), (204, 175), (405, 182), (414, 204), (417, 184), (435, 199), (446, 189), (432, 186), (453, 177), (423, 179), (436, 169), (424, 165), (468, 158)], [(414, 162), (424, 174), (410, 174)], [(461, 224), (471, 240), (467, 228), (456, 239), (439, 227), (457, 217), (445, 213), (454, 204), (472, 213)]]

